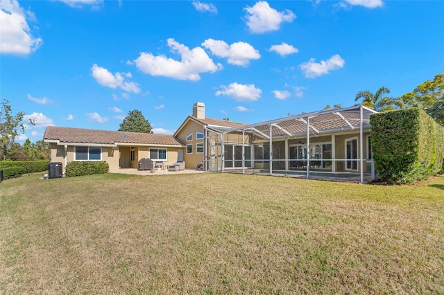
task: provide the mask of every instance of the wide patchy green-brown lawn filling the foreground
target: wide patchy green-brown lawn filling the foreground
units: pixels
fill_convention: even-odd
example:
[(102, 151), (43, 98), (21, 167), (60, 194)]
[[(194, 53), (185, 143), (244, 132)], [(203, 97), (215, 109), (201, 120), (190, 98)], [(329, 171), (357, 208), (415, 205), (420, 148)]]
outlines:
[(1, 294), (443, 294), (444, 177), (8, 179)]

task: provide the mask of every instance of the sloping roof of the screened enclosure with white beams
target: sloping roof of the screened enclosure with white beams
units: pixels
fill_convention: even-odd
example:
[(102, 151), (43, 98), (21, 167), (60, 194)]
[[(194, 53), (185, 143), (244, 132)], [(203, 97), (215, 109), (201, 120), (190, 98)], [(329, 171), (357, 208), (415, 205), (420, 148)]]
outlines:
[(362, 116), (362, 127), (366, 128), (370, 126), (370, 115), (375, 113), (377, 113), (377, 111), (374, 111), (373, 109), (369, 109), (362, 105), (356, 105), (342, 109), (324, 109), (322, 111), (287, 116), (230, 129), (219, 127), (210, 127), (209, 129), (220, 134), (241, 132), (244, 130), (248, 133), (257, 134), (262, 138), (270, 138), (270, 133), (271, 137), (297, 137), (307, 135), (307, 123), (310, 134), (321, 134), (340, 130), (359, 130)]

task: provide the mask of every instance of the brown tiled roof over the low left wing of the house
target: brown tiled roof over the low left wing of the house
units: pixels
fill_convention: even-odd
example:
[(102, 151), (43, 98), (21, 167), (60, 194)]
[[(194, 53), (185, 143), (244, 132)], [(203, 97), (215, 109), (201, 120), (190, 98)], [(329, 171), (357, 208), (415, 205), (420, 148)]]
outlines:
[(71, 127), (46, 127), (43, 139), (45, 142), (58, 144), (77, 143), (81, 145), (173, 145), (184, 144), (171, 135), (83, 129)]

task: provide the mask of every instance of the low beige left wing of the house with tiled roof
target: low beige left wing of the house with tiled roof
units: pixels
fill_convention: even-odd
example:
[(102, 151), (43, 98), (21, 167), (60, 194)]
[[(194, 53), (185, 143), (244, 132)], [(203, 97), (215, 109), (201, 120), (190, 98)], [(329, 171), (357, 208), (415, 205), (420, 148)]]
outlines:
[(139, 159), (176, 163), (185, 144), (171, 135), (46, 127), (44, 142), (51, 146), (51, 161), (106, 161), (110, 171), (137, 168)]

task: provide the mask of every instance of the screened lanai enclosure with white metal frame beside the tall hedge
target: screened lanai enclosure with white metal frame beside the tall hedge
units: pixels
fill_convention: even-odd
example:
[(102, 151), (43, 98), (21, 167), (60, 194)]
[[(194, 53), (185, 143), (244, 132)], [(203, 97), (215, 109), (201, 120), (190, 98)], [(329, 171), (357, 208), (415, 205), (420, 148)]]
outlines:
[(375, 178), (362, 105), (236, 128), (205, 126), (204, 167), (219, 172), (365, 182)]

